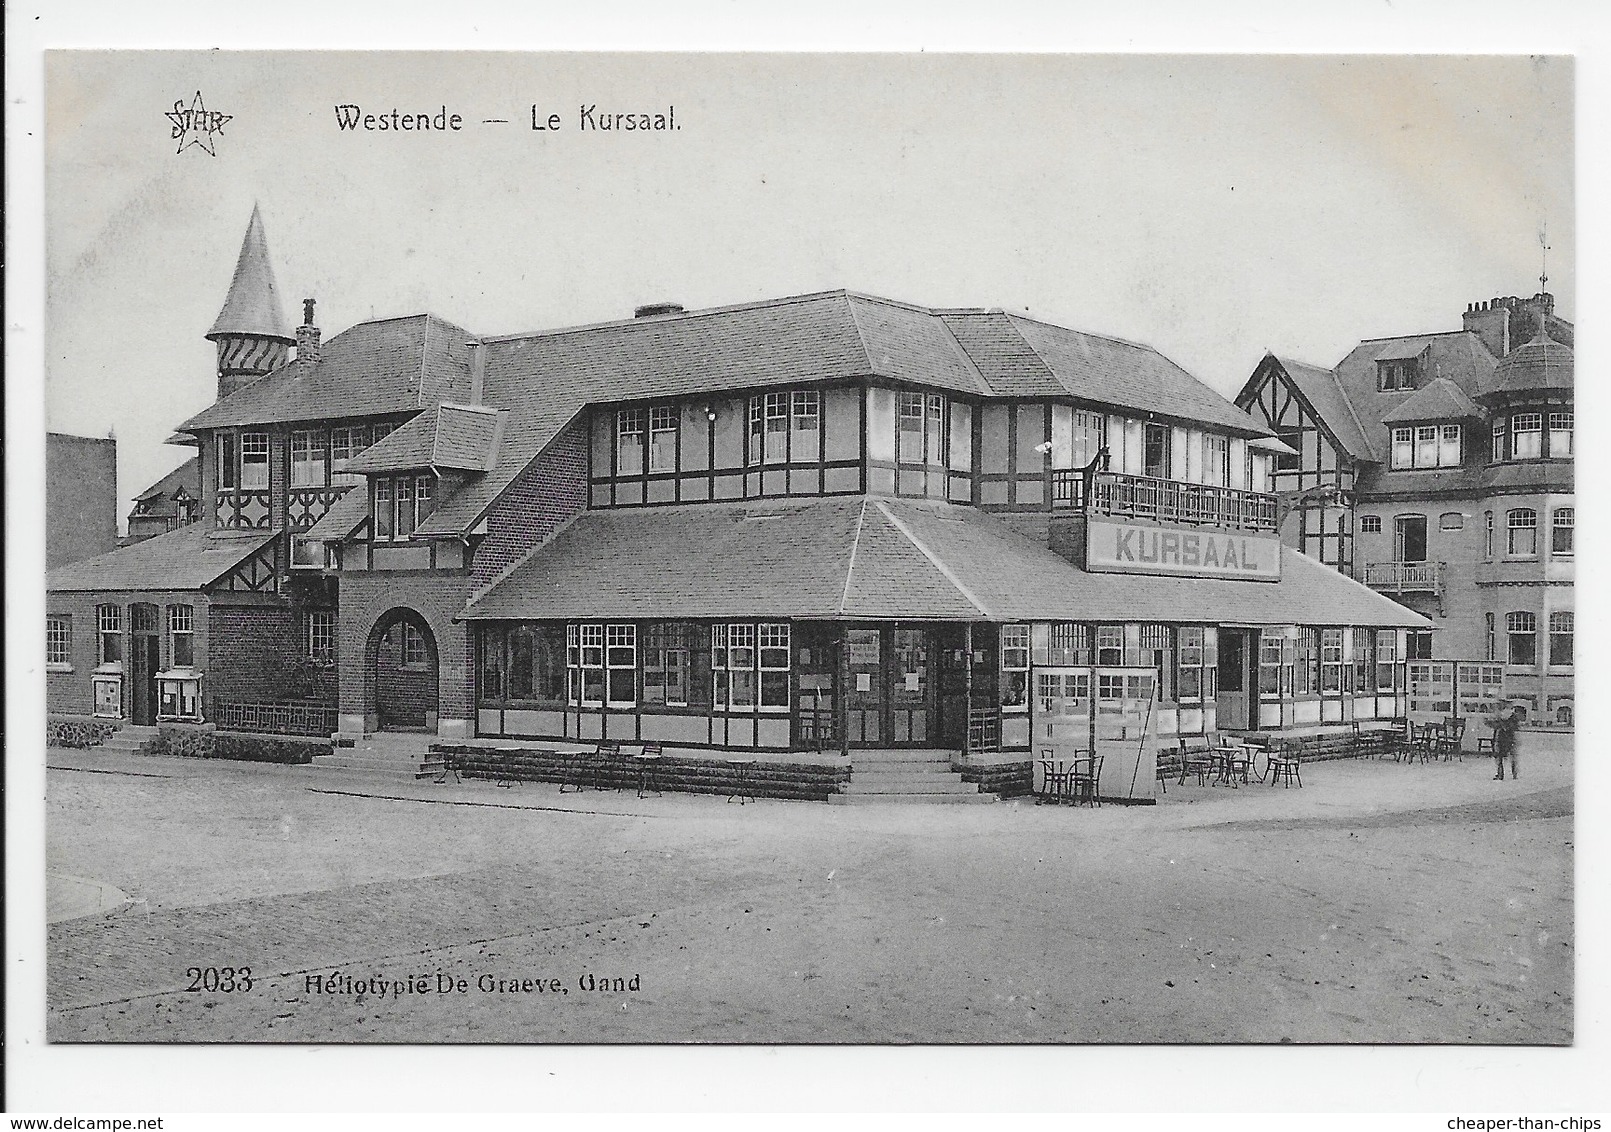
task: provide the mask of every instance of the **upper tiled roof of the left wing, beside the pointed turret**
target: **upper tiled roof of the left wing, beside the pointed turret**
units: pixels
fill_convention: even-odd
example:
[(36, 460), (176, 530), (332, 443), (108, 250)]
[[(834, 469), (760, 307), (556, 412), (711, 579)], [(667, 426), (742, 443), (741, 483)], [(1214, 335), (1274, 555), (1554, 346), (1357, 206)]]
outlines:
[(288, 362), (179, 428), (372, 417), (464, 401), (469, 341), (466, 330), (433, 314), (359, 322), (322, 345), (311, 372)]

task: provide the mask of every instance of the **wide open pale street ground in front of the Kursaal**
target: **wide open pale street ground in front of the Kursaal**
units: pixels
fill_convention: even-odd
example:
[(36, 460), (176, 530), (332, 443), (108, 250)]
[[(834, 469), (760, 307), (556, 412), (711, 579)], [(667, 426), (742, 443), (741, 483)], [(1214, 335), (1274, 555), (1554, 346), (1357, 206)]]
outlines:
[(1099, 812), (52, 765), (52, 868), (135, 900), (50, 927), (58, 1042), (1572, 1035), (1569, 758)]

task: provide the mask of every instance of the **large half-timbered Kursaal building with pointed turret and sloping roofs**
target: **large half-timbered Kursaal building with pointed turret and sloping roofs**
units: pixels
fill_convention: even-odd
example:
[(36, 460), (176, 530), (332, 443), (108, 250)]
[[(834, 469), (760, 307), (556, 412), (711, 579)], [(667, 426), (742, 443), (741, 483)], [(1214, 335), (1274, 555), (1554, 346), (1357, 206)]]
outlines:
[(1092, 697), (1168, 746), (1403, 715), (1432, 626), (1281, 546), (1266, 422), (996, 309), (322, 341), (255, 213), (206, 337), (205, 517), (48, 575), (55, 713), (1028, 765)]

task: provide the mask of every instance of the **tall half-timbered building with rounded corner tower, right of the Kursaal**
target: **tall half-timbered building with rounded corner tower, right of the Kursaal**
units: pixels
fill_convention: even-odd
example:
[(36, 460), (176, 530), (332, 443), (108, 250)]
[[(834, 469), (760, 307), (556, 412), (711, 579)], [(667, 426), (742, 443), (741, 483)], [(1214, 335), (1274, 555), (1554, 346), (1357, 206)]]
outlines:
[(1555, 726), (1574, 713), (1572, 330), (1547, 291), (1493, 298), (1332, 369), (1268, 354), (1237, 396), (1292, 449), (1282, 539), (1424, 614), (1411, 660), (1498, 671)]

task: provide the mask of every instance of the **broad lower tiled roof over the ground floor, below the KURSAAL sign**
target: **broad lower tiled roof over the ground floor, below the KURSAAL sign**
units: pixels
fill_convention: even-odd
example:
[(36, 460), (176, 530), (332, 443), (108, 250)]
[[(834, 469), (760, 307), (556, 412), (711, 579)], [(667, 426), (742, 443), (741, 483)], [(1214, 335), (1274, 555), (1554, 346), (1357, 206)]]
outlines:
[(971, 507), (841, 498), (583, 512), (464, 617), (1426, 625), (1295, 551), (1279, 583), (1087, 573)]

